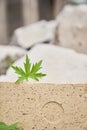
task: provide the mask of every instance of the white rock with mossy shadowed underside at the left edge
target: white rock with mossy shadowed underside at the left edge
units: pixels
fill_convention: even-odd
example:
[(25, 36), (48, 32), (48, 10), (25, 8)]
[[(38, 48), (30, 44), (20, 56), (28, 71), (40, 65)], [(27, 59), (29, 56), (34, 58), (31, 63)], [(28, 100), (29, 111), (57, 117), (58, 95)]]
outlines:
[(7, 68), (25, 54), (25, 50), (15, 46), (0, 46), (0, 75), (5, 74)]

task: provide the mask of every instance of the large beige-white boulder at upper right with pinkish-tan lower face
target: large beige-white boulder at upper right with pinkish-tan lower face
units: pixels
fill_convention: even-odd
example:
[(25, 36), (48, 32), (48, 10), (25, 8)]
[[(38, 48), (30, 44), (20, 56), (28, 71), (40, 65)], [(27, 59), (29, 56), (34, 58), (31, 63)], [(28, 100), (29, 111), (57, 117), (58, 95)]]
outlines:
[(65, 6), (57, 17), (55, 42), (87, 53), (87, 5)]

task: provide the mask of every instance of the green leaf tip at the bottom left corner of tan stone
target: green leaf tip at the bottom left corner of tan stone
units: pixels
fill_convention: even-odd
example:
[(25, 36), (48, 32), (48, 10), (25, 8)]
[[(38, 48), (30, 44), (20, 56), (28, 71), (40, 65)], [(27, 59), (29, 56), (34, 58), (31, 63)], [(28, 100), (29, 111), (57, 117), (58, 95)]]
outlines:
[(4, 122), (0, 122), (0, 130), (22, 130), (18, 127), (19, 123), (15, 123), (12, 125), (7, 125)]

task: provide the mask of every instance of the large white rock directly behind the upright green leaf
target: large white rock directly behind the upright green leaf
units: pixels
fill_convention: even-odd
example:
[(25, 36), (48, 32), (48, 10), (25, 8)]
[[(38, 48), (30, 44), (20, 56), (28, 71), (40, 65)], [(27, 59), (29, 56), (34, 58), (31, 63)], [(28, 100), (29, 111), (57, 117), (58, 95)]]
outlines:
[[(54, 45), (37, 45), (28, 52), (31, 62), (43, 60), (42, 72), (47, 74), (40, 82), (87, 82), (87, 55)], [(23, 67), (25, 56), (14, 65)], [(5, 81), (16, 81), (17, 75), (10, 68)], [(31, 81), (31, 80), (29, 80)]]

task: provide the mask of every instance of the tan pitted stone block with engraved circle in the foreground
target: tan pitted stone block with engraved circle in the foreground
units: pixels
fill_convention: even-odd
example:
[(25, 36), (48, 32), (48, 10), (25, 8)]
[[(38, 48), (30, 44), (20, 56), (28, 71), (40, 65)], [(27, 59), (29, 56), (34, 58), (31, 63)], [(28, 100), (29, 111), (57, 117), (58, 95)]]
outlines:
[(0, 83), (0, 121), (24, 130), (86, 130), (87, 84)]

